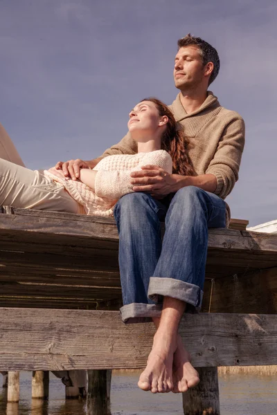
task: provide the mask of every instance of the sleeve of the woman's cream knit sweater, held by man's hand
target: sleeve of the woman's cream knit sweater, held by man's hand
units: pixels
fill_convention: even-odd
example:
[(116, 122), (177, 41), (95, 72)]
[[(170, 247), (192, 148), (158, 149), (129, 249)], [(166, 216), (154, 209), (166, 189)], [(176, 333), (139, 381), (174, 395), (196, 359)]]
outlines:
[[(145, 165), (158, 165), (168, 173), (172, 173), (172, 159), (164, 151), (151, 151), (145, 153), (136, 167), (128, 170), (98, 170), (95, 181), (95, 192), (97, 196), (107, 199), (118, 200), (127, 193), (132, 193), (134, 185), (130, 183), (131, 172), (141, 170)], [(97, 168), (97, 167), (96, 167)]]

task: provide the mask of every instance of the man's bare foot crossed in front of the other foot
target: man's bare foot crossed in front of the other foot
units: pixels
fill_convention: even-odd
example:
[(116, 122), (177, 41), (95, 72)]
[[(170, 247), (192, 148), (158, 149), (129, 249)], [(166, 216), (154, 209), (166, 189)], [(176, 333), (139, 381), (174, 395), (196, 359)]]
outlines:
[(172, 365), (176, 349), (177, 338), (172, 341), (172, 338), (165, 338), (165, 335), (154, 335), (148, 364), (138, 382), (143, 391), (152, 391), (152, 394), (172, 391)]

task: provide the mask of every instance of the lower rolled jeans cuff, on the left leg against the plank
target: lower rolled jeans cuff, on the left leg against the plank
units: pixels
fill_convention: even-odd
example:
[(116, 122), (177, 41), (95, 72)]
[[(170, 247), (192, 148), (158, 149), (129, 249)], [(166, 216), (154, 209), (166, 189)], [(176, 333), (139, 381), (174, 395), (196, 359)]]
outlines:
[(124, 323), (151, 322), (152, 317), (161, 317), (162, 304), (132, 303), (120, 308)]

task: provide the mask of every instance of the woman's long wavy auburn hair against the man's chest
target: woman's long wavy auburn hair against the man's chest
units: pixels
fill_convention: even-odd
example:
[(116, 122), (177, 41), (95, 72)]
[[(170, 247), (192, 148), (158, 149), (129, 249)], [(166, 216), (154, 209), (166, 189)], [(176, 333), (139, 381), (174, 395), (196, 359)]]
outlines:
[(190, 157), (188, 156), (188, 139), (185, 136), (181, 124), (175, 120), (168, 106), (163, 104), (163, 102), (157, 98), (145, 98), (144, 100), (141, 100), (141, 102), (143, 101), (153, 102), (156, 105), (159, 116), (168, 117), (166, 130), (161, 138), (161, 149), (170, 154), (172, 158), (173, 173), (184, 176), (195, 176), (193, 163), (191, 163)]

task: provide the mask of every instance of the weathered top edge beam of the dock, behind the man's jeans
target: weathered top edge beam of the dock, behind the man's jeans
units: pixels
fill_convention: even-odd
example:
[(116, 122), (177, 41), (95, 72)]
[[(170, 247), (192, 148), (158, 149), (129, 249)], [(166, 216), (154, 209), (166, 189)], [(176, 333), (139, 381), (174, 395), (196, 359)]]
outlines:
[[(81, 216), (80, 220), (76, 219), (76, 216)], [(118, 241), (118, 232), (113, 219), (58, 212), (15, 210), (15, 215), (0, 214), (0, 229), (1, 233), (5, 230), (9, 232), (25, 230), (35, 234), (40, 232)], [(229, 252), (231, 250), (277, 252), (277, 236), (231, 229), (211, 229), (209, 247)]]

